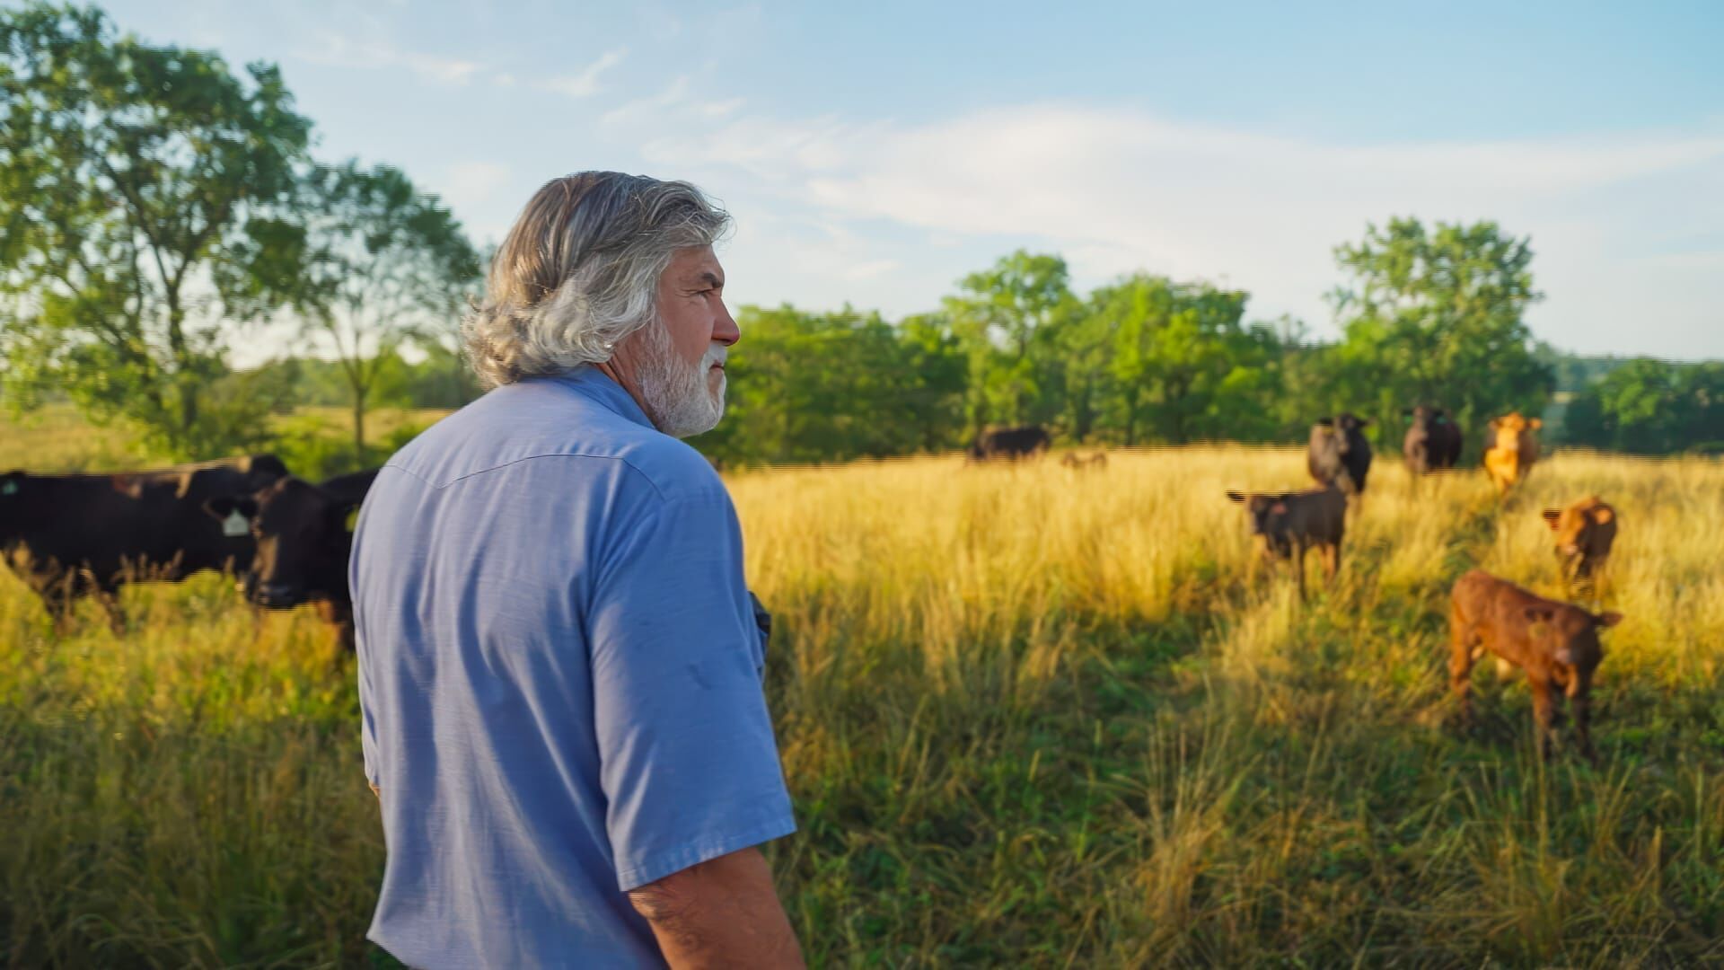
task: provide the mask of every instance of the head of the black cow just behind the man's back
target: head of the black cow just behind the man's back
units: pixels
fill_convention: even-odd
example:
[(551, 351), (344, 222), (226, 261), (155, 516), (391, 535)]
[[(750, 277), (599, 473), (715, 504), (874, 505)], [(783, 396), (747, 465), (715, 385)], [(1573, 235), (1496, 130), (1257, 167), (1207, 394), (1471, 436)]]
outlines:
[(310, 482), (281, 478), (253, 495), (210, 499), (205, 509), (216, 518), (238, 513), (250, 520), (257, 552), (245, 592), (259, 606), (286, 609), (328, 597), (347, 573), (352, 504)]

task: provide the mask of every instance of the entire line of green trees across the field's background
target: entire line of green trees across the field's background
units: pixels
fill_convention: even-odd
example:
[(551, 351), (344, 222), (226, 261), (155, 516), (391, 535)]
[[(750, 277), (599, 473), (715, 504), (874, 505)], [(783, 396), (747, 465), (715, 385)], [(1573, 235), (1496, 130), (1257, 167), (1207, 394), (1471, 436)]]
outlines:
[[(453, 333), (478, 247), (403, 171), (322, 162), (312, 143), (271, 64), (152, 45), (93, 7), (0, 12), (0, 397), (69, 399), (184, 459), (305, 450), (279, 414), (340, 404), (347, 457), (319, 445), (333, 469), (398, 444), (367, 437), (372, 407), (471, 400)], [(1248, 319), (1248, 292), (1205, 280), (1133, 273), (1079, 293), (1062, 257), (1031, 252), (898, 321), (743, 307), (728, 418), (695, 445), (781, 464), (938, 452), (993, 425), (1072, 444), (1296, 442), (1353, 411), (1395, 447), (1412, 404), (1446, 407), (1474, 454), (1510, 409), (1558, 413), (1565, 440), (1612, 450), (1724, 442), (1724, 364), (1584, 362), (1533, 340), (1524, 236), (1391, 219), (1334, 257), (1329, 342)], [(233, 366), (283, 321), (317, 352)]]

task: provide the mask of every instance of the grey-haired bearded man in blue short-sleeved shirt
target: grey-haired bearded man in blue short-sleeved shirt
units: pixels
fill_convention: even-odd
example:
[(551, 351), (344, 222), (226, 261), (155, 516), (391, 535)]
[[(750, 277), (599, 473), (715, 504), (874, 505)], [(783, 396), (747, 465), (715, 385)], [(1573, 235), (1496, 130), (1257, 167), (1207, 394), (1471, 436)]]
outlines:
[(724, 411), (728, 224), (691, 185), (555, 180), (491, 262), (490, 394), (353, 537), (371, 939), (414, 967), (800, 967), (757, 846), (795, 830)]

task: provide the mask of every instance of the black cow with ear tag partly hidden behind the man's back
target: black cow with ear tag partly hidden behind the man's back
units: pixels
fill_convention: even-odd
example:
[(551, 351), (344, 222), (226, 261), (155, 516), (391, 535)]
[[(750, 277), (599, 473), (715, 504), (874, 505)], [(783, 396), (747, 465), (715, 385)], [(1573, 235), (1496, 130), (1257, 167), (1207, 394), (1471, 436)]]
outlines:
[(376, 468), (340, 475), (317, 485), (279, 478), (253, 494), (217, 495), (205, 502), (212, 520), (240, 516), (257, 537), (257, 556), (245, 576), (245, 595), (265, 609), (310, 604), (336, 628), (336, 640), (353, 649), (353, 594), (347, 561), (353, 552), (348, 516), (365, 501)]

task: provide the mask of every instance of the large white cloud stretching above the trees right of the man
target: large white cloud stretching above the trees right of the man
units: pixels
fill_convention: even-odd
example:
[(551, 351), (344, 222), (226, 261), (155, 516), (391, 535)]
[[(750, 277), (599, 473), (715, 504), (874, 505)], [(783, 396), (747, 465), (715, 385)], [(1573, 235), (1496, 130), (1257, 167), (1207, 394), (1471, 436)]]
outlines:
[[(1724, 274), (1707, 257), (1648, 259), (1724, 224), (1724, 193), (1708, 192), (1724, 181), (1719, 131), (1346, 145), (1040, 104), (921, 126), (738, 117), (643, 155), (836, 221), (1060, 250), (1081, 285), (1140, 268), (1224, 280), (1253, 293), (1253, 316), (1319, 330), (1341, 281), (1331, 250), (1367, 223), (1496, 219), (1533, 236), (1541, 337), (1724, 354), (1724, 328), (1702, 337)], [(1657, 312), (1634, 314), (1638, 300)]]

